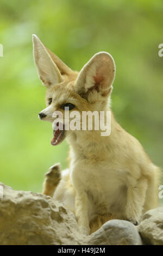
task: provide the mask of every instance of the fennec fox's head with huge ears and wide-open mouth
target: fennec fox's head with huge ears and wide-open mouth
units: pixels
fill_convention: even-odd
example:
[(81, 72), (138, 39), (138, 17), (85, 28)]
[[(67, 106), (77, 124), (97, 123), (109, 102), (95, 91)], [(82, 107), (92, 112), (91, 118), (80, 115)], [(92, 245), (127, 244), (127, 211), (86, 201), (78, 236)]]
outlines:
[[(37, 73), (47, 88), (46, 108), (39, 113), (41, 120), (53, 123), (53, 113), (65, 107), (71, 111), (103, 111), (108, 105), (115, 78), (114, 59), (108, 52), (98, 52), (80, 72), (73, 71), (33, 35), (33, 53)], [(63, 124), (64, 125), (64, 124)], [(55, 130), (52, 144), (57, 145), (72, 131)]]

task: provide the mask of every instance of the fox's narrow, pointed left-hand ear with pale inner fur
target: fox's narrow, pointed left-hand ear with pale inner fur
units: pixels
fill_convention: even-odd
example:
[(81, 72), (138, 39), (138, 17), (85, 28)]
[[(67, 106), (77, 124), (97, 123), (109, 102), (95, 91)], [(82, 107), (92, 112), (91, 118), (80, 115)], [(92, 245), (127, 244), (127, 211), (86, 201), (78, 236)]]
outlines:
[(37, 72), (43, 85), (49, 87), (62, 81), (57, 65), (40, 39), (33, 35), (33, 54)]

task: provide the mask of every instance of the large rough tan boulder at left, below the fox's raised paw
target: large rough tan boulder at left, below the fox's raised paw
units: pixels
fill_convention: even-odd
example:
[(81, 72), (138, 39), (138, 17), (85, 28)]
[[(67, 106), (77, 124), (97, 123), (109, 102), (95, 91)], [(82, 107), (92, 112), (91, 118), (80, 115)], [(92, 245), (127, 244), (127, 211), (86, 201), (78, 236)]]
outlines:
[(83, 243), (84, 236), (78, 231), (74, 215), (61, 203), (40, 193), (4, 186), (0, 199), (0, 245)]

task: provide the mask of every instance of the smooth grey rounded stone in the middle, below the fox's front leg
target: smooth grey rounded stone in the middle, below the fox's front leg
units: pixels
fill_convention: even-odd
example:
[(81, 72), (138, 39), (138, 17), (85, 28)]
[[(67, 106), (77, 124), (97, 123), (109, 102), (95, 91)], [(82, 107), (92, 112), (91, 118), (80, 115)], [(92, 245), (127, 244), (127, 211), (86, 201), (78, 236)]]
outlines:
[(142, 245), (135, 225), (129, 221), (111, 220), (89, 236), (90, 245)]

